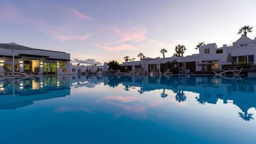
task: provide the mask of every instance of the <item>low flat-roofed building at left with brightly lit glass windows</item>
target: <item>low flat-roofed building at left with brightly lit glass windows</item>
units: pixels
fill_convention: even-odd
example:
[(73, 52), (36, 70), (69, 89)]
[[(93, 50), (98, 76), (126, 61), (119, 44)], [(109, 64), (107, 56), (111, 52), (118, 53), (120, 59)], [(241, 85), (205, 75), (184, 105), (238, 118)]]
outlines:
[[(14, 71), (48, 74), (69, 74), (70, 54), (66, 52), (33, 49), (31, 51), (15, 51)], [(0, 71), (3, 66), (12, 70), (12, 51), (1, 49)]]

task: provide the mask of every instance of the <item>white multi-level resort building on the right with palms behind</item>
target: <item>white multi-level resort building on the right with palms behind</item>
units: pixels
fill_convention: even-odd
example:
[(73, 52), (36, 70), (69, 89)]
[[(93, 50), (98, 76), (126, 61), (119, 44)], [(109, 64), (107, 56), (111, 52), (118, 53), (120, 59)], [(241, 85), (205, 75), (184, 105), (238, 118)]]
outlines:
[[(255, 55), (256, 37), (250, 39), (247, 36), (242, 36), (231, 45), (224, 44), (222, 47), (218, 47), (216, 43), (212, 43), (200, 46), (198, 54), (187, 55), (186, 57), (155, 59), (143, 57), (141, 61), (123, 62), (121, 70), (124, 70), (125, 67), (126, 70), (134, 70), (141, 65), (148, 74), (152, 71), (161, 70), (161, 72), (164, 72), (166, 69), (173, 70), (172, 68), (179, 67), (186, 67), (190, 72), (207, 71), (221, 69), (221, 66), (231, 63), (254, 65), (256, 63)], [(231, 58), (228, 60), (228, 57)], [(204, 65), (205, 63), (211, 65)]]

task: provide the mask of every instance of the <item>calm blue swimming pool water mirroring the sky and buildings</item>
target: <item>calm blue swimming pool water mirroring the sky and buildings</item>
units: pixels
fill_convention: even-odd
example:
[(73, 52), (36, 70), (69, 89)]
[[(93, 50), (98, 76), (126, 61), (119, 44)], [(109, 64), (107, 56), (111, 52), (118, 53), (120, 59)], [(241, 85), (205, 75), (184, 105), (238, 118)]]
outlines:
[(0, 143), (256, 143), (256, 78), (0, 79)]

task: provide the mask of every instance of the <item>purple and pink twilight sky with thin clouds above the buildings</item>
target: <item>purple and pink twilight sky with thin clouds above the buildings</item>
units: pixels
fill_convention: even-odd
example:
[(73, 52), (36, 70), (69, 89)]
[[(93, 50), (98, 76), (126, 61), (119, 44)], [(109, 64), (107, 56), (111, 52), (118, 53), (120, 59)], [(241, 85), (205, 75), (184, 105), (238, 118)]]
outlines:
[(232, 44), (244, 25), (254, 27), (256, 1), (3, 1), (0, 43), (70, 53), (76, 62), (103, 63), (136, 58), (171, 57), (175, 45), (185, 55), (199, 42)]

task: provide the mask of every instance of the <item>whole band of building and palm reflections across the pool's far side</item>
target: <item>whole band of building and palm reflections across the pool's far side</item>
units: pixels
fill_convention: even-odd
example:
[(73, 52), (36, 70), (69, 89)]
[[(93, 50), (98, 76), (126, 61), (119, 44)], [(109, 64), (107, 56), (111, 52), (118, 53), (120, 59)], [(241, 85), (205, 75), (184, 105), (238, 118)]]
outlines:
[[(33, 105), (36, 100), (66, 97), (72, 89), (82, 87), (93, 88), (100, 84), (115, 88), (123, 86), (123, 90), (130, 92), (136, 89), (139, 94), (161, 90), (161, 98), (175, 98), (182, 103), (189, 95), (186, 92), (197, 93), (193, 99), (198, 105), (206, 103), (216, 104), (218, 100), (223, 103), (233, 103), (241, 109), (239, 117), (244, 121), (253, 119), (248, 113), (255, 108), (255, 78), (241, 77), (213, 77), (213, 76), (57, 76), (35, 77), (27, 79), (7, 79), (0, 81), (0, 109), (15, 109)], [(172, 93), (166, 93), (166, 90)], [(95, 90), (97, 92), (97, 90)], [(186, 94), (185, 94), (186, 93)], [(158, 95), (158, 97), (159, 97)], [(122, 97), (118, 97), (122, 99)], [(145, 97), (145, 99), (147, 99)], [(132, 109), (132, 107), (129, 107)]]

